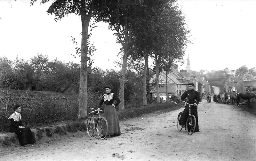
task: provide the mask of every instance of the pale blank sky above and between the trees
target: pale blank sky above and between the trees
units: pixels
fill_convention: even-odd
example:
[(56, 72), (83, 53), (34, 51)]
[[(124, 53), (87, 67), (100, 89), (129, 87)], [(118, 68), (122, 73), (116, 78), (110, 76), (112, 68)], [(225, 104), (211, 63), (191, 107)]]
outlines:
[[(70, 14), (60, 21), (48, 15), (52, 1), (33, 6), (30, 0), (0, 0), (0, 57), (30, 60), (37, 53), (50, 60), (80, 63), (76, 47), (81, 45), (82, 25), (79, 16)], [(256, 0), (178, 0), (186, 15), (192, 44), (184, 56), (185, 69), (189, 55), (191, 70), (236, 70), (242, 65), (252, 68), (256, 54)], [(108, 24), (93, 28), (91, 42), (96, 46), (93, 67), (115, 69), (120, 44)], [(76, 38), (77, 45), (71, 41)]]

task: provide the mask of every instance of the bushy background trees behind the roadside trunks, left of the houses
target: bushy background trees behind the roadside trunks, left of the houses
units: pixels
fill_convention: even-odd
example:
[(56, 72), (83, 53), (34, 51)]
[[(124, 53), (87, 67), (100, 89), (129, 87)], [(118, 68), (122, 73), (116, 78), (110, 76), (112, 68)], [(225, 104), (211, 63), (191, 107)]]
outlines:
[[(124, 103), (127, 107), (138, 107), (142, 105), (142, 78), (141, 74), (135, 71), (133, 63), (128, 62)], [(16, 89), (78, 94), (79, 77), (79, 64), (61, 62), (57, 58), (49, 60), (48, 56), (42, 53), (37, 53), (30, 60), (18, 57), (15, 60), (9, 60), (6, 57), (0, 57), (0, 88), (5, 88), (7, 91)], [(89, 99), (98, 102), (104, 93), (104, 86), (109, 84), (112, 86), (112, 92), (118, 94), (119, 83), (120, 71), (88, 67)]]

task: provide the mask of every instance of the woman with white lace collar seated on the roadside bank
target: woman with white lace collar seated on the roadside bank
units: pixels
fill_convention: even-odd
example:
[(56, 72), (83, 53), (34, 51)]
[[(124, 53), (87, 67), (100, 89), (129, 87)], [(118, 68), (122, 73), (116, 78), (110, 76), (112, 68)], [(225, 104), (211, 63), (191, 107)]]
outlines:
[(19, 142), (21, 146), (26, 144), (34, 144), (36, 142), (35, 137), (33, 136), (29, 127), (24, 127), (21, 121), (21, 108), (20, 104), (15, 104), (13, 106), (15, 111), (8, 119), (11, 120), (10, 132), (14, 132), (18, 135)]

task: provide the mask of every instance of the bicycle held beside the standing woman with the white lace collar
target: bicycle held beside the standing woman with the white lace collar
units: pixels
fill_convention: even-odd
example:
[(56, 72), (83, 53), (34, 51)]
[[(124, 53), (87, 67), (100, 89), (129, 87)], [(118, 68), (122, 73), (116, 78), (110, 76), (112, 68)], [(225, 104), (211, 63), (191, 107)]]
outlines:
[[(102, 110), (94, 110), (94, 108), (89, 109), (92, 116), (88, 117), (86, 122), (86, 131), (89, 137), (92, 137), (94, 130), (97, 129), (97, 133), (100, 139), (105, 139), (108, 135), (108, 121), (106, 118), (100, 116), (100, 111)], [(98, 111), (98, 112), (96, 112)], [(94, 114), (99, 115), (95, 117)], [(96, 126), (95, 126), (96, 125)]]

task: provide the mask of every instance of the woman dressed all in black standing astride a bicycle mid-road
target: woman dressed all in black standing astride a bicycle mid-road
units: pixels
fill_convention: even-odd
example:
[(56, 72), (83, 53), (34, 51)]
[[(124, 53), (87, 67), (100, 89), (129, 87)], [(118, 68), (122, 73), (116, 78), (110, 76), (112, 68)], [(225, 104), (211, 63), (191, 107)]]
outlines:
[[(191, 107), (191, 114), (194, 115), (196, 117), (196, 129), (195, 132), (199, 132), (199, 127), (198, 127), (198, 116), (197, 116), (197, 104), (200, 101), (200, 96), (199, 93), (194, 89), (195, 85), (194, 83), (188, 83), (188, 91), (185, 91), (183, 93), (183, 95), (181, 96), (181, 101), (185, 101), (185, 98), (188, 98), (187, 103), (189, 104), (194, 104), (196, 103), (194, 106)], [(182, 127), (185, 127), (186, 124), (186, 120), (188, 118), (188, 113), (189, 113), (189, 105), (187, 104), (185, 106), (184, 111), (181, 114), (180, 117), (180, 122), (179, 124)]]

